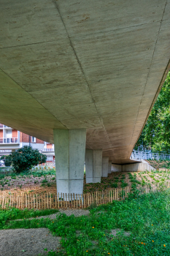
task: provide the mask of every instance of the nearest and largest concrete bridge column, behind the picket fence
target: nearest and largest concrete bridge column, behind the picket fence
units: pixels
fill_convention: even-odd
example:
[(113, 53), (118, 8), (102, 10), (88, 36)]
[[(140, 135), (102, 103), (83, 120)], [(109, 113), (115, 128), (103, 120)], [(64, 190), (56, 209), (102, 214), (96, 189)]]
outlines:
[(82, 194), (85, 129), (54, 129), (57, 192)]

